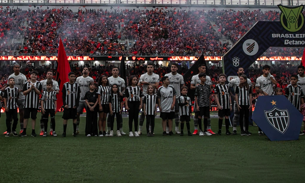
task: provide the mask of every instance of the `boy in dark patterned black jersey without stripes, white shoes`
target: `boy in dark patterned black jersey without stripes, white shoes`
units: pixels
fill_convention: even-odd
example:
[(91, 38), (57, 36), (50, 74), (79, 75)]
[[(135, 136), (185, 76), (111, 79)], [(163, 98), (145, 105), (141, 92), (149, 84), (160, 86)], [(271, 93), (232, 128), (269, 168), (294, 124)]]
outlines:
[[(195, 102), (196, 108), (199, 111), (198, 116), (198, 126), (199, 126), (199, 136), (207, 135), (210, 136), (207, 132), (208, 118), (210, 117), (210, 107), (211, 107), (211, 89), (208, 84), (206, 84), (206, 74), (200, 73), (198, 75), (200, 79), (200, 84), (196, 85), (195, 89)], [(204, 117), (204, 131), (202, 131), (201, 119)]]

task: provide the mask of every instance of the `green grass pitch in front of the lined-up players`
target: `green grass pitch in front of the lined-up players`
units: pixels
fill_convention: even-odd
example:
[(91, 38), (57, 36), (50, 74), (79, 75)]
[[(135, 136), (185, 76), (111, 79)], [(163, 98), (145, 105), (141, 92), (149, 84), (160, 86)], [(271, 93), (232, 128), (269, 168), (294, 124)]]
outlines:
[[(81, 117), (81, 135), (73, 137), (69, 121), (67, 137), (62, 138), (61, 116), (56, 114), (58, 137), (31, 137), (30, 124), (27, 137), (4, 137), (2, 113), (1, 183), (303, 182), (305, 135), (298, 141), (271, 142), (258, 136), (257, 127), (250, 127), (252, 136), (164, 137), (156, 119), (154, 137), (85, 137)], [(40, 113), (37, 134), (39, 119)], [(214, 132), (217, 121), (212, 119)], [(126, 118), (123, 129), (128, 131)]]

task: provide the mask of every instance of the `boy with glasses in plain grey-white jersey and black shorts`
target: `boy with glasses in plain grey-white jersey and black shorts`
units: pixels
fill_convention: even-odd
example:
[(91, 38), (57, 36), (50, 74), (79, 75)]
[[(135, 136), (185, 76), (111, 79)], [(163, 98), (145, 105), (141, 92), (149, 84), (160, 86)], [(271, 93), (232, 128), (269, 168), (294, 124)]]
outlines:
[(158, 104), (160, 109), (160, 118), (162, 118), (163, 136), (166, 136), (166, 122), (168, 121), (169, 135), (174, 135), (173, 119), (175, 117), (175, 102), (176, 102), (176, 91), (173, 86), (169, 85), (170, 80), (168, 76), (161, 78), (163, 86), (158, 89)]

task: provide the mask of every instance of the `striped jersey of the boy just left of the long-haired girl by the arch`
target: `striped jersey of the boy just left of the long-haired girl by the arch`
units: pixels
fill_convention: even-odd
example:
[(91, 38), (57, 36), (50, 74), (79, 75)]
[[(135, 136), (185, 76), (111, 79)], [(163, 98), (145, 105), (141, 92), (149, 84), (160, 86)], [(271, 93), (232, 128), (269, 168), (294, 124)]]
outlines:
[(216, 84), (215, 94), (218, 94), (219, 104), (222, 109), (230, 109), (229, 85)]

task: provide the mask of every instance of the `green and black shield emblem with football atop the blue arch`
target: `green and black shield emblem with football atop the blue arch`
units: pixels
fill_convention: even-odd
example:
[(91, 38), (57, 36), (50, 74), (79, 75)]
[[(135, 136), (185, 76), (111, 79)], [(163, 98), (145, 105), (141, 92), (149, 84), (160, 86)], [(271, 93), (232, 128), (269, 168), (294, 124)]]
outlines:
[(289, 7), (278, 5), (278, 8), (282, 11), (280, 15), (280, 22), (282, 26), (289, 32), (296, 32), (300, 30), (304, 25), (303, 8), (304, 5)]

